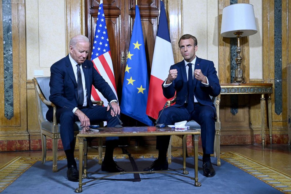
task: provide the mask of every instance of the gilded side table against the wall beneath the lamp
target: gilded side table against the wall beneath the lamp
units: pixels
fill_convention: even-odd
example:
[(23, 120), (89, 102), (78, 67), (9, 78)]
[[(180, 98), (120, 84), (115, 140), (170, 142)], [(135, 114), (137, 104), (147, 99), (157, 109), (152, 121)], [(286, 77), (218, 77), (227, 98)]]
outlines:
[(262, 146), (265, 146), (265, 94), (268, 95), (268, 124), (270, 144), (272, 145), (272, 103), (271, 94), (273, 93), (273, 84), (269, 83), (223, 83), (221, 86), (221, 95), (225, 94), (260, 94), (261, 101), (261, 122), (262, 122)]

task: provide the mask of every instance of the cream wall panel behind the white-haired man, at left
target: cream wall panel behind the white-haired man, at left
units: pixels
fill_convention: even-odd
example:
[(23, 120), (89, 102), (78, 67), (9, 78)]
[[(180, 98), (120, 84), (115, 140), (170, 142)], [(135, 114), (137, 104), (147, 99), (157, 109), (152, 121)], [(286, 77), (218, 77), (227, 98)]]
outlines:
[(26, 43), (27, 79), (50, 76), (50, 66), (67, 54), (64, 0), (26, 0)]

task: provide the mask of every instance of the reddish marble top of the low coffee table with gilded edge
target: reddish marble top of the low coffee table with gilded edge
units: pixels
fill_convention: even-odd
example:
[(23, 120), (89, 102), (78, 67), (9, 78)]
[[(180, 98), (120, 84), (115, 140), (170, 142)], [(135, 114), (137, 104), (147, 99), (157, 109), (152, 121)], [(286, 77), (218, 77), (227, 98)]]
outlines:
[(156, 135), (199, 135), (200, 130), (188, 129), (177, 131), (170, 127), (158, 128), (155, 126), (138, 127), (100, 127), (101, 131), (80, 131), (77, 137), (110, 137), (110, 136), (156, 136)]

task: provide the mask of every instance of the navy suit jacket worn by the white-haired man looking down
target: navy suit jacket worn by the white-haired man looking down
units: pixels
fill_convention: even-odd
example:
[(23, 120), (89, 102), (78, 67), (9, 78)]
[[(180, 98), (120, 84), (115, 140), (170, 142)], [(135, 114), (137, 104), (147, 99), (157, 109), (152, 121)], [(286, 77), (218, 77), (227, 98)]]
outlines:
[[(92, 61), (85, 60), (82, 64), (82, 69), (87, 90), (87, 105), (89, 107), (93, 106), (91, 101), (92, 85), (99, 90), (99, 92), (101, 92), (109, 102), (116, 99), (109, 84), (93, 67)], [(72, 111), (78, 106), (77, 82), (69, 55), (54, 63), (50, 68), (49, 99), (57, 106), (57, 108), (66, 108)], [(52, 114), (52, 110), (49, 110), (47, 113), (47, 119), (51, 118)]]

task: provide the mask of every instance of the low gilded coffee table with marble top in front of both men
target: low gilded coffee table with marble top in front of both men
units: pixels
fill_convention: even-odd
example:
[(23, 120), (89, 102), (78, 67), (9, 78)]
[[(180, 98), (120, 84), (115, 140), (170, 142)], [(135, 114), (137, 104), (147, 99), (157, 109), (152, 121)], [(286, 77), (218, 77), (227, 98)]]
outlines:
[[(142, 127), (123, 127), (123, 128), (114, 128), (114, 127), (101, 127), (99, 128), (102, 131), (80, 131), (77, 135), (79, 140), (79, 188), (76, 188), (76, 193), (82, 192), (82, 186), (86, 183), (89, 183), (93, 180), (106, 178), (109, 176), (114, 176), (117, 174), (126, 174), (126, 173), (144, 173), (143, 171), (131, 171), (131, 172), (120, 172), (120, 173), (105, 173), (106, 176), (91, 179), (85, 183), (82, 182), (83, 178), (87, 178), (87, 141), (86, 138), (89, 137), (98, 137), (102, 139), (103, 137), (112, 137), (112, 136), (157, 136), (157, 135), (182, 135), (183, 142), (183, 168), (181, 168), (183, 174), (170, 173), (168, 171), (151, 171), (150, 173), (170, 173), (174, 175), (184, 176), (195, 180), (194, 185), (197, 187), (201, 186), (201, 183), (198, 182), (198, 138), (200, 136), (200, 131), (188, 129), (186, 131), (176, 131), (170, 127), (157, 128), (155, 126), (142, 126)], [(189, 174), (186, 170), (186, 136), (193, 136), (193, 145), (194, 145), (194, 168), (195, 168), (195, 177), (185, 176)], [(99, 141), (100, 142), (100, 141)], [(100, 144), (99, 144), (100, 145)], [(99, 146), (101, 147), (101, 146)], [(85, 150), (85, 151), (84, 151)], [(101, 157), (99, 156), (99, 164), (102, 160), (102, 151), (99, 150), (99, 155), (101, 152)], [(83, 158), (84, 156), (84, 158)], [(83, 171), (83, 159), (84, 159), (84, 171)], [(97, 173), (101, 174), (101, 173)]]

